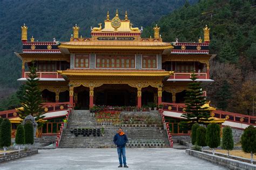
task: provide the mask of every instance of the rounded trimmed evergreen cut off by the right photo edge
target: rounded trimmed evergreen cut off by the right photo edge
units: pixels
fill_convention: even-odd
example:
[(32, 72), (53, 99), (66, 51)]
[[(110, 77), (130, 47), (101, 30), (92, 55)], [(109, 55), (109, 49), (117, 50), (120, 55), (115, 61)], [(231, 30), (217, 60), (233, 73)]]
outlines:
[(248, 126), (241, 136), (242, 151), (251, 153), (251, 163), (253, 164), (253, 154), (256, 153), (256, 128)]

